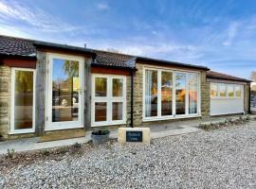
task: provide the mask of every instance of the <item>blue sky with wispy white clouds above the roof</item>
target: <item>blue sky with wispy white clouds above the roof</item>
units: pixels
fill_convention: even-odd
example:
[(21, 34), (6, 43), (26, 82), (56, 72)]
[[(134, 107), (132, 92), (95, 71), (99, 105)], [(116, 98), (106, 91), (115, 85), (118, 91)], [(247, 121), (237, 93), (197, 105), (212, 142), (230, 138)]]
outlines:
[(0, 0), (0, 34), (256, 70), (255, 0)]

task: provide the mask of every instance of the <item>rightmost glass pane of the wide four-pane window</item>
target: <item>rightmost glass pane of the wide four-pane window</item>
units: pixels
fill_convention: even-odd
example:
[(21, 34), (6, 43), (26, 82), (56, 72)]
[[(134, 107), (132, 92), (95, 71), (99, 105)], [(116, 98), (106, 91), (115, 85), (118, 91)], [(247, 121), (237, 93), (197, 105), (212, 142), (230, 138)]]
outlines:
[(197, 113), (197, 75), (189, 74), (189, 113)]

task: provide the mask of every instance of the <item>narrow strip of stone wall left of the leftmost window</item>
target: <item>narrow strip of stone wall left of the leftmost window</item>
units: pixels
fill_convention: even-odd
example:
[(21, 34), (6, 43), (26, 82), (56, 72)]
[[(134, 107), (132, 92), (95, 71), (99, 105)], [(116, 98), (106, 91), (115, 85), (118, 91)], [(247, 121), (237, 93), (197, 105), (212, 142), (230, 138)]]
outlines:
[[(0, 66), (0, 134), (8, 138), (10, 120), (10, 67)], [(0, 136), (1, 137), (1, 136)]]

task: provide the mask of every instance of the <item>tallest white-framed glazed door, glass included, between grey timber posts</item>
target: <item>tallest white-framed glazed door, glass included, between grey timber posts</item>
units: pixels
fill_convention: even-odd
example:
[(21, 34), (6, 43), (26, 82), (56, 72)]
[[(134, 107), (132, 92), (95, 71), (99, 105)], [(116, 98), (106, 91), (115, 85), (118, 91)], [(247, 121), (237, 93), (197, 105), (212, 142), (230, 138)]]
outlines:
[(82, 128), (83, 59), (48, 56), (46, 130)]

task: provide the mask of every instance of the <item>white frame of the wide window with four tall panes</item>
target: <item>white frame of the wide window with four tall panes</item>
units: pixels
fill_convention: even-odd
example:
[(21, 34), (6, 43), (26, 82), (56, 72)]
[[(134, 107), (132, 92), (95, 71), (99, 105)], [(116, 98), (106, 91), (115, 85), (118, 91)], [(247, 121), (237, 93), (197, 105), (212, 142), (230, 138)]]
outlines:
[[(146, 70), (156, 70), (157, 71), (157, 116), (146, 117), (146, 106), (145, 106), (145, 71)], [(173, 114), (172, 115), (163, 115), (161, 116), (161, 72), (172, 72), (173, 73)], [(185, 114), (176, 114), (176, 86), (175, 86), (175, 74), (176, 73), (185, 73), (186, 74), (186, 113)], [(197, 112), (196, 113), (189, 113), (189, 87), (188, 87), (188, 75), (189, 74), (197, 74)], [(158, 121), (158, 120), (168, 120), (168, 119), (177, 119), (177, 118), (189, 118), (189, 117), (198, 117), (201, 116), (201, 77), (200, 73), (196, 71), (185, 71), (185, 70), (178, 70), (178, 69), (169, 69), (165, 67), (154, 67), (154, 66), (143, 66), (143, 103), (142, 103), (142, 121)]]

